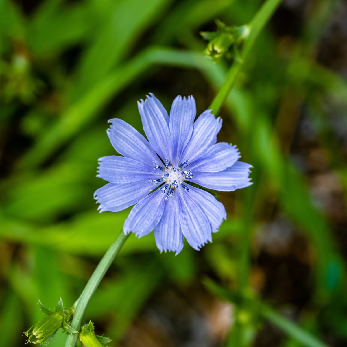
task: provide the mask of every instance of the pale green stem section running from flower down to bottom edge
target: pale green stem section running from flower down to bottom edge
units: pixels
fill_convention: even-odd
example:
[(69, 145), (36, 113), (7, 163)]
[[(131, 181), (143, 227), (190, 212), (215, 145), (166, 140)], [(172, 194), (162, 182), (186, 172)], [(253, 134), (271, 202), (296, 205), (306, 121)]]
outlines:
[[(115, 259), (115, 256), (118, 254), (120, 248), (124, 245), (129, 235), (130, 234), (125, 235), (123, 231), (119, 233), (115, 242), (112, 243), (110, 248), (107, 250), (105, 255), (100, 260), (100, 263), (98, 264), (98, 266), (96, 266), (96, 269), (94, 270), (91, 278), (89, 279), (88, 283), (83, 289), (82, 294), (77, 299), (74, 305), (75, 306), (74, 319), (72, 320), (72, 323), (71, 323), (71, 327), (73, 327), (77, 331), (79, 331), (79, 329), (81, 328), (83, 316), (84, 316), (84, 313), (90, 298), (94, 294), (96, 288), (98, 288), (106, 271), (112, 264), (113, 259)], [(76, 344), (77, 338), (78, 338), (78, 333), (69, 334), (65, 342), (65, 347), (74, 347)]]

